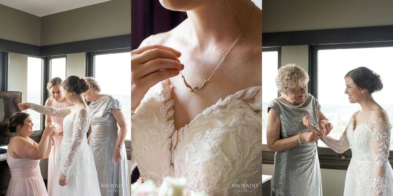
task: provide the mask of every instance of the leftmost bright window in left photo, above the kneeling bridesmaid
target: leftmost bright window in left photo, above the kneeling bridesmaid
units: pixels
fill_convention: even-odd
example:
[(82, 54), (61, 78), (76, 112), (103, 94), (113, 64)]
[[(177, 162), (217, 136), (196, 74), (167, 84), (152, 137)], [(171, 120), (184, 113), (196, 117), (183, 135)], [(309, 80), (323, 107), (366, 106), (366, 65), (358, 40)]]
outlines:
[[(42, 59), (35, 57), (27, 58), (27, 102), (34, 104), (42, 103)], [(27, 110), (33, 121), (33, 130), (41, 130), (42, 115), (34, 110)]]

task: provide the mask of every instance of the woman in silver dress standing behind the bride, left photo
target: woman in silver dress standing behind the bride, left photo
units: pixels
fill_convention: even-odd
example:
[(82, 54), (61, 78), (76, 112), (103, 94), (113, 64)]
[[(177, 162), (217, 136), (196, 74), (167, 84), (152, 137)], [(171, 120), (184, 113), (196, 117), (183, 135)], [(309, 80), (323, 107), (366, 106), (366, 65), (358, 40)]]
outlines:
[(83, 96), (91, 102), (92, 132), (88, 141), (96, 163), (101, 195), (129, 195), (124, 146), (127, 125), (120, 102), (111, 95), (101, 94), (94, 78), (84, 80), (90, 86)]

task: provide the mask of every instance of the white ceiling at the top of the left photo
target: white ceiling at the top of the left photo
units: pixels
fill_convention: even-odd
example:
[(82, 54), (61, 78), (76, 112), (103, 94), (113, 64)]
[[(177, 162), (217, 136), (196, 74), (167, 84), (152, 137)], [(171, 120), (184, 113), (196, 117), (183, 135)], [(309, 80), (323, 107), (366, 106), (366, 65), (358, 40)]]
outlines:
[(0, 4), (42, 17), (108, 1), (110, 0), (0, 0)]

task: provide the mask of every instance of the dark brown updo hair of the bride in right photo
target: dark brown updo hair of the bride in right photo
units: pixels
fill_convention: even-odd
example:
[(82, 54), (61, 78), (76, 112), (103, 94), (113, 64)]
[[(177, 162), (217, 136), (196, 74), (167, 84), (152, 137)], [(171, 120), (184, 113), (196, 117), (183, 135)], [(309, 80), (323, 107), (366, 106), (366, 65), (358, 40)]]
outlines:
[(383, 84), (381, 77), (376, 72), (367, 67), (358, 67), (349, 71), (346, 77), (351, 77), (354, 83), (360, 88), (366, 88), (369, 93), (382, 90)]

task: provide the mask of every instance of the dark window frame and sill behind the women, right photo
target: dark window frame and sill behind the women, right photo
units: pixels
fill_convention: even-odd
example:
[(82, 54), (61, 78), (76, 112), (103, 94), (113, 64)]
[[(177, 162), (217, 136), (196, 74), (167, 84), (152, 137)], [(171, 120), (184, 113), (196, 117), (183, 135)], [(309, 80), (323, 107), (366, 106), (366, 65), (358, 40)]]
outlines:
[[(393, 47), (393, 41), (366, 42), (366, 43), (340, 43), (309, 45), (309, 75), (312, 80), (309, 82), (310, 93), (318, 99), (318, 51), (329, 49), (351, 49), (370, 47)], [(264, 47), (263, 47), (264, 48)], [(264, 51), (264, 49), (263, 49)], [(280, 58), (280, 57), (279, 57)], [(318, 141), (317, 141), (318, 142)], [(352, 151), (348, 149), (344, 153), (336, 153), (330, 148), (317, 147), (318, 158), (321, 168), (344, 169), (348, 168), (352, 158)], [(274, 154), (266, 144), (262, 147), (262, 163), (274, 164)], [(389, 151), (389, 163), (393, 166), (393, 150)]]

